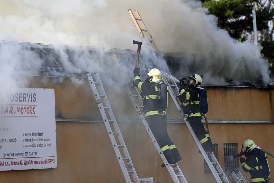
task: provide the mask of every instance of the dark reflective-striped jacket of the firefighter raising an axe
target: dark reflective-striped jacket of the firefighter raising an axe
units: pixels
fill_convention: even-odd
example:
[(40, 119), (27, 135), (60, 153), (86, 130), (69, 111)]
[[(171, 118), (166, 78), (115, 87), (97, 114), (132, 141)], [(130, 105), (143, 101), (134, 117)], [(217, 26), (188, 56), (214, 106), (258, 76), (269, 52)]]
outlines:
[(160, 84), (142, 82), (140, 79), (140, 73), (137, 71), (134, 71), (133, 85), (138, 87), (138, 89), (141, 91), (145, 117), (150, 115), (166, 114), (165, 111), (163, 111), (162, 113), (159, 113), (160, 104), (159, 104), (159, 100), (157, 100), (157, 94), (158, 94), (158, 90), (159, 90), (158, 88), (160, 87)]

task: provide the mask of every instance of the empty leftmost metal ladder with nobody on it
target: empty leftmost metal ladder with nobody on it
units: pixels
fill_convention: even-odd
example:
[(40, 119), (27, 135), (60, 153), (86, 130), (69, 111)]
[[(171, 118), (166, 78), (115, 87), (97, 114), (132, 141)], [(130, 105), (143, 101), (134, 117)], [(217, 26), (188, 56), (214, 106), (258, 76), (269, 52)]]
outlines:
[[(113, 145), (113, 148), (114, 148), (115, 154), (117, 156), (118, 162), (120, 164), (121, 170), (124, 174), (125, 180), (126, 180), (127, 183), (132, 182), (131, 179), (130, 179), (130, 176), (129, 176), (129, 173), (131, 173), (133, 181), (135, 183), (139, 183), (140, 182), (139, 178), (137, 176), (137, 173), (135, 171), (135, 168), (134, 168), (133, 163), (131, 161), (131, 158), (129, 156), (128, 149), (127, 149), (127, 147), (125, 145), (125, 142), (124, 142), (124, 139), (121, 135), (120, 129), (119, 129), (118, 124), (117, 124), (117, 121), (114, 117), (114, 113), (112, 112), (111, 105), (110, 105), (110, 103), (107, 99), (107, 95), (106, 95), (106, 92), (104, 91), (104, 88), (103, 88), (102, 82), (100, 80), (99, 74), (95, 73), (92, 76), (92, 74), (90, 72), (88, 72), (88, 73), (86, 73), (86, 76), (89, 80), (90, 87), (93, 91), (93, 95), (95, 97), (95, 102), (96, 102), (97, 106), (99, 107), (101, 116), (103, 117), (104, 124), (107, 128), (109, 138), (111, 139), (111, 143)], [(102, 98), (102, 100), (101, 100), (101, 98)], [(103, 106), (103, 103), (104, 103), (105, 106)], [(110, 119), (108, 119), (105, 110), (108, 111), (108, 116), (110, 117)], [(111, 125), (110, 125), (111, 123), (113, 124), (114, 131), (112, 131), (112, 128), (111, 128)], [(114, 137), (114, 135), (118, 137), (119, 144), (116, 142), (116, 138)], [(123, 150), (125, 157), (122, 157), (119, 148), (121, 148)], [(129, 170), (127, 169), (127, 166), (126, 166), (124, 160), (127, 161), (127, 165), (128, 165)]]

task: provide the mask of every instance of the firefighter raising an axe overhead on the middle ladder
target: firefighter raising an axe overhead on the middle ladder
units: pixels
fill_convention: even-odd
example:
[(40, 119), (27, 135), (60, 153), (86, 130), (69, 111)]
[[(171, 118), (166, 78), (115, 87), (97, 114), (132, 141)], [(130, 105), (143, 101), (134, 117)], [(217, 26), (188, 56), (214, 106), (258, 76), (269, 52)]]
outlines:
[[(147, 73), (148, 78), (146, 81), (142, 82), (140, 69), (135, 67), (133, 72), (133, 85), (141, 91), (146, 121), (168, 163), (176, 163), (182, 158), (167, 134), (167, 115), (164, 110), (160, 110), (159, 100), (157, 99), (159, 86), (163, 84), (161, 73), (158, 69), (152, 69)], [(164, 166), (163, 164), (162, 167)]]

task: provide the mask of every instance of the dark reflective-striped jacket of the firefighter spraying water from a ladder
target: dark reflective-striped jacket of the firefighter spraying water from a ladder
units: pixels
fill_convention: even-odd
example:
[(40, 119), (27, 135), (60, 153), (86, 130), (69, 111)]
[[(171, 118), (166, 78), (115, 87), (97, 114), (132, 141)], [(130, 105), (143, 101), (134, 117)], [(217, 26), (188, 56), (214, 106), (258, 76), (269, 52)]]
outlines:
[(182, 102), (182, 109), (186, 117), (201, 116), (199, 104), (200, 104), (200, 95), (199, 89), (193, 87), (191, 89), (180, 90), (179, 101)]

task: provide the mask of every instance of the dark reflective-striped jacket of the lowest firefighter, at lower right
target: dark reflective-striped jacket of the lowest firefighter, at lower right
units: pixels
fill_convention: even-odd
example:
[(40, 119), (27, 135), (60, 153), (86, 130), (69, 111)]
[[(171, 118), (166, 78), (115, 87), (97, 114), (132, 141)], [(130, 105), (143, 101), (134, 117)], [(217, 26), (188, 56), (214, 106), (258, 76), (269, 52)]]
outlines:
[(266, 153), (255, 148), (253, 151), (247, 153), (246, 156), (246, 160), (244, 158), (240, 158), (240, 161), (243, 170), (250, 173), (251, 182), (270, 180), (270, 169)]

